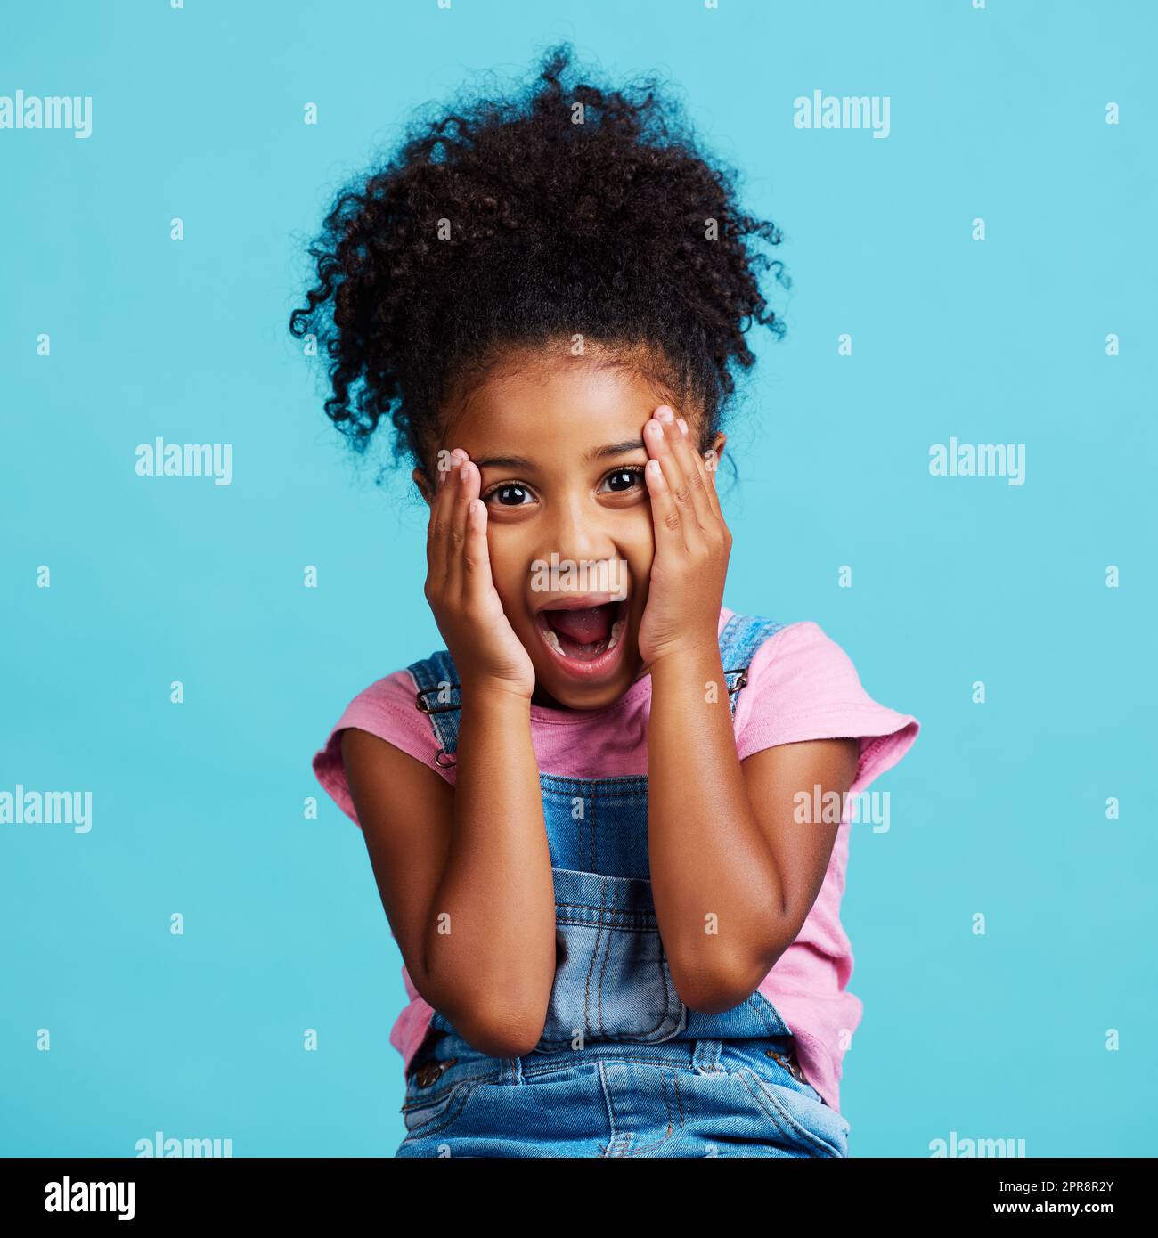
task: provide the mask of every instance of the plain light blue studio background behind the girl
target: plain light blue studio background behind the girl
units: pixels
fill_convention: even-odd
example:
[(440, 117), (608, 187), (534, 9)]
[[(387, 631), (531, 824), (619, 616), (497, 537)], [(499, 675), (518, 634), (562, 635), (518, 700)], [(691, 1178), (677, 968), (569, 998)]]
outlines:
[[(93, 829), (0, 827), (0, 1151), (401, 1138), (401, 961), (310, 760), (442, 644), (425, 509), (286, 319), (415, 105), (571, 38), (668, 78), (785, 232), (726, 600), (816, 620), (924, 727), (892, 828), (852, 827), (851, 1154), (1153, 1154), (1154, 33), (1142, 0), (6, 6), (0, 94), (92, 95), (93, 134), (0, 131), (0, 790), (89, 789)], [(815, 89), (888, 95), (890, 136), (796, 130)], [(232, 443), (233, 483), (137, 477), (159, 435)], [(930, 477), (950, 436), (1024, 443), (1025, 484)]]

